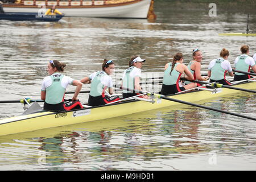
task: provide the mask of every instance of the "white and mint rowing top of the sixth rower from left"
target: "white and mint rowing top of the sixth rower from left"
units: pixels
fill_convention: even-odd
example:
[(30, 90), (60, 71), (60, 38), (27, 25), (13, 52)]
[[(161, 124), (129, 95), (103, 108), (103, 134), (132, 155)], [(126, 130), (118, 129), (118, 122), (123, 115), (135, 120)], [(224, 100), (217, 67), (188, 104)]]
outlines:
[(223, 59), (222, 57), (210, 61), (209, 68), (210, 79), (212, 80), (222, 80), (226, 78), (226, 72), (232, 72), (231, 64), (228, 60)]

